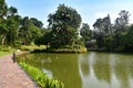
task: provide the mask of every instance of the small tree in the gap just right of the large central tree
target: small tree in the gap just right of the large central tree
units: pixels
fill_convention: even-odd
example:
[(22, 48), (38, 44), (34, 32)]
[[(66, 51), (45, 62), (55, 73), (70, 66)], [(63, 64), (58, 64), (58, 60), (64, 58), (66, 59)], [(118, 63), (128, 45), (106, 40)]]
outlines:
[(82, 36), (83, 41), (90, 41), (91, 40), (91, 30), (88, 23), (83, 23), (82, 28), (80, 30), (80, 35)]

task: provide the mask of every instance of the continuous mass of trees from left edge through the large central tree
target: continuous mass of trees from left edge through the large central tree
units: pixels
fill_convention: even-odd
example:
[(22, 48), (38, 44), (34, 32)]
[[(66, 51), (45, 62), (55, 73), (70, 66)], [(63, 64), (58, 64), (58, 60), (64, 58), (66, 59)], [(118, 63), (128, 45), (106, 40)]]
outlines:
[[(80, 45), (79, 38), (81, 15), (75, 9), (60, 4), (53, 14), (48, 16), (49, 26), (35, 18), (19, 15), (14, 7), (8, 7), (4, 0), (0, 1), (0, 44), (29, 45), (45, 44), (53, 48)], [(83, 44), (82, 44), (83, 45)]]

